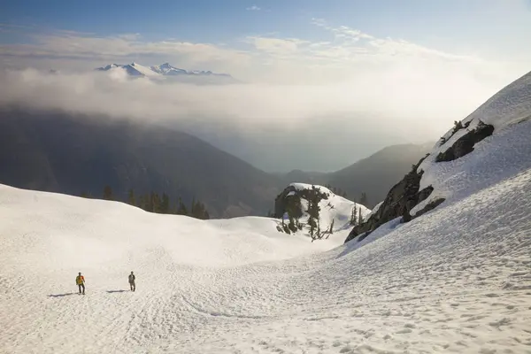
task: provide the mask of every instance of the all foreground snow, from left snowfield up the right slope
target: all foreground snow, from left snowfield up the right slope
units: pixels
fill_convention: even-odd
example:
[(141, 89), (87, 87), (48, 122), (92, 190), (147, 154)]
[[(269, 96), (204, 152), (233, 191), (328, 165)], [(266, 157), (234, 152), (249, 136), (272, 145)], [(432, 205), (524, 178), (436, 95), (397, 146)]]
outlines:
[(0, 351), (526, 353), (530, 88), (456, 124), (344, 244), (0, 186)]

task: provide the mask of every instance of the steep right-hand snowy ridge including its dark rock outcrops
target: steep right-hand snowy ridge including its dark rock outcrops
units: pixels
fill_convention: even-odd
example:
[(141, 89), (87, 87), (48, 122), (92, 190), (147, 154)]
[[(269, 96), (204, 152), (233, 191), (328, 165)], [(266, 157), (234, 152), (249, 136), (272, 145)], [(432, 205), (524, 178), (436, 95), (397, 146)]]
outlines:
[(456, 121), (434, 149), (413, 165), (366, 222), (346, 241), (378, 227), (409, 222), (531, 168), (531, 73)]

